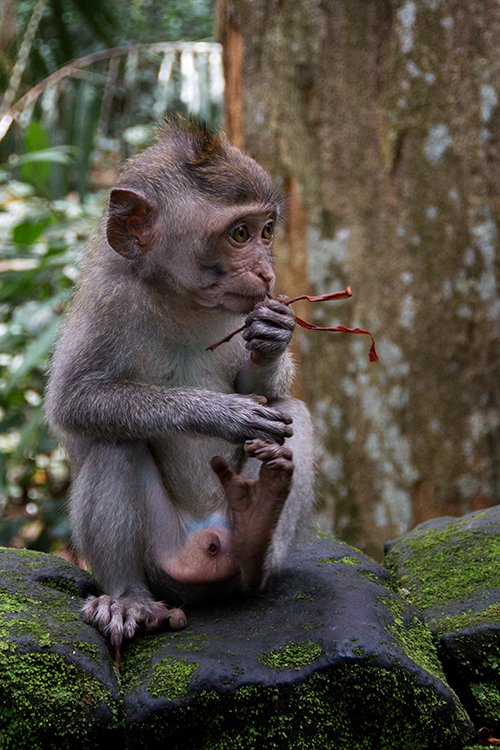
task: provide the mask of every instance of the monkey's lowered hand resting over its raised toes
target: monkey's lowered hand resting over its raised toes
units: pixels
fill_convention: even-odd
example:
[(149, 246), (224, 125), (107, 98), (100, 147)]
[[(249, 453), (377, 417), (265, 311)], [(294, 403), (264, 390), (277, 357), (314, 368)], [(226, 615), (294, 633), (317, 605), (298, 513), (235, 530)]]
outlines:
[(243, 443), (256, 438), (282, 445), (293, 435), (292, 418), (267, 406), (264, 396), (221, 394), (217, 421), (212, 434), (232, 443)]

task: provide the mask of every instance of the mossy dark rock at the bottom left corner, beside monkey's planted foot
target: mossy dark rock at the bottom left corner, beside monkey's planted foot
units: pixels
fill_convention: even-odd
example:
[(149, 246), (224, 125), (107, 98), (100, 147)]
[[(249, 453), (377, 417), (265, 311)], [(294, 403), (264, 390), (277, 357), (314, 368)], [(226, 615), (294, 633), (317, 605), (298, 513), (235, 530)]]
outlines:
[(52, 555), (0, 549), (0, 748), (109, 741), (119, 690), (106, 644), (79, 614), (92, 578)]

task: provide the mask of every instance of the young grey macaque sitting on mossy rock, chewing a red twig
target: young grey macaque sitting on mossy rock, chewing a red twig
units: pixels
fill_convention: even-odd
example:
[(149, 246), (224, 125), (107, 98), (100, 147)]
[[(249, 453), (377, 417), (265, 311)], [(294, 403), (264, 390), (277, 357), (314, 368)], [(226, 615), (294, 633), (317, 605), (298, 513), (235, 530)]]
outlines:
[(260, 589), (308, 517), (294, 318), (271, 297), (280, 212), (253, 159), (174, 117), (123, 168), (86, 253), (46, 408), (71, 460), (74, 544), (104, 592), (83, 616), (115, 649), (184, 628), (170, 605)]

